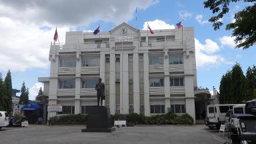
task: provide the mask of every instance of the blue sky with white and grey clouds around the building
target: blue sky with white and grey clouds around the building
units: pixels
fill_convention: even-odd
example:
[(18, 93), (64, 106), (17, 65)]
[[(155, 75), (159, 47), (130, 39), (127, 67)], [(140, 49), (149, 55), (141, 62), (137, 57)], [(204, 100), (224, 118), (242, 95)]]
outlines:
[(235, 13), (251, 4), (231, 3), (221, 19), (224, 26), (215, 31), (207, 21), (213, 13), (201, 0), (0, 0), (0, 73), (5, 78), (10, 69), (13, 88), (21, 89), (25, 81), (29, 99), (34, 100), (43, 87), (37, 78), (49, 77), (49, 48), (56, 27), (60, 43), (65, 43), (66, 31), (88, 32), (98, 25), (100, 31), (109, 31), (123, 22), (137, 29), (147, 29), (147, 22), (151, 29), (174, 29), (183, 19), (183, 27), (195, 29), (197, 85), (212, 91), (213, 86), (219, 89), (221, 76), (235, 63), (244, 73), (255, 65), (255, 46), (235, 49), (232, 31), (225, 31)]

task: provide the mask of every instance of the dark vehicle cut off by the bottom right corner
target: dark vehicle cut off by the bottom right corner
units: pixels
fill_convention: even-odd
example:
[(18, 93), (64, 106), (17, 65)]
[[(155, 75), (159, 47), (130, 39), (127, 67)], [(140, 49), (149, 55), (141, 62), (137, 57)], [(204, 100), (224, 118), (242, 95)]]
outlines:
[[(245, 105), (245, 113), (235, 113), (233, 115), (234, 119), (234, 130), (231, 131), (231, 141), (232, 143), (242, 143), (246, 141), (247, 143), (256, 143), (256, 100), (247, 101)], [(239, 110), (242, 112), (242, 110)], [(237, 112), (239, 112), (237, 111)]]

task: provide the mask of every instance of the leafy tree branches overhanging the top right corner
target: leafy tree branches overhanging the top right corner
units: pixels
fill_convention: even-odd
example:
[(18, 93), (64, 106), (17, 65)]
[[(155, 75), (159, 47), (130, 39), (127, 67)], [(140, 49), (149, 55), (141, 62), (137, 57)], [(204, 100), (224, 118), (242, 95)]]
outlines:
[[(213, 23), (213, 29), (217, 30), (223, 23), (220, 21), (223, 16), (229, 13), (229, 4), (237, 3), (241, 0), (207, 0), (203, 4), (209, 8), (215, 16), (209, 19)], [(235, 13), (235, 22), (228, 23), (226, 30), (233, 29), (232, 36), (235, 37), (237, 48), (247, 49), (256, 43), (256, 0), (243, 0), (249, 5), (245, 9)]]

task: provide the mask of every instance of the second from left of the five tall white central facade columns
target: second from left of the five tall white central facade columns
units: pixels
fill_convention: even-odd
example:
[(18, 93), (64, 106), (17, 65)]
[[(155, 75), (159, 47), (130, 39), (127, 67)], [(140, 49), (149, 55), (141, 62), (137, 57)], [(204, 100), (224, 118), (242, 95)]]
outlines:
[(110, 54), (109, 109), (110, 109), (111, 115), (114, 115), (115, 114), (115, 53)]

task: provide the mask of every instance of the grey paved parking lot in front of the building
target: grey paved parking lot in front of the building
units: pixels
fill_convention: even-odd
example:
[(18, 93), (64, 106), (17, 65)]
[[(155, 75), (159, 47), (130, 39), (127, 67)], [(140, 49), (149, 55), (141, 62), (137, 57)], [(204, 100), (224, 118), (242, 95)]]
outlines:
[(143, 126), (117, 128), (113, 133), (82, 133), (81, 126), (32, 125), (29, 128), (2, 128), (1, 144), (104, 143), (104, 144), (223, 144), (224, 139), (206, 131), (205, 125)]

